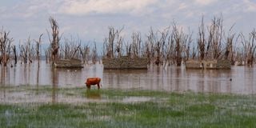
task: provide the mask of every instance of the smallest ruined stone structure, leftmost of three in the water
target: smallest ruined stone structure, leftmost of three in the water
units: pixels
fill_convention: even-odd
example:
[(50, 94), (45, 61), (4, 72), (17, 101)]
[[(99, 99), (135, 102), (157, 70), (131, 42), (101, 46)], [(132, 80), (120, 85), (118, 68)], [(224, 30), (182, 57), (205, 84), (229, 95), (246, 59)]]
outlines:
[(82, 61), (78, 58), (58, 59), (55, 60), (53, 66), (55, 68), (82, 68)]

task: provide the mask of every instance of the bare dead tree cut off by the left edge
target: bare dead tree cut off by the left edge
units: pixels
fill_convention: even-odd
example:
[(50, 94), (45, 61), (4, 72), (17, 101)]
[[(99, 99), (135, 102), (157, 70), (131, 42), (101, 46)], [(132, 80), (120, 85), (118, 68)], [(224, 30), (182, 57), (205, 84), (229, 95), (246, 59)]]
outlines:
[(0, 64), (3, 66), (7, 66), (7, 62), (10, 59), (10, 44), (14, 41), (13, 38), (9, 38), (10, 32), (6, 32), (5, 30), (0, 31)]

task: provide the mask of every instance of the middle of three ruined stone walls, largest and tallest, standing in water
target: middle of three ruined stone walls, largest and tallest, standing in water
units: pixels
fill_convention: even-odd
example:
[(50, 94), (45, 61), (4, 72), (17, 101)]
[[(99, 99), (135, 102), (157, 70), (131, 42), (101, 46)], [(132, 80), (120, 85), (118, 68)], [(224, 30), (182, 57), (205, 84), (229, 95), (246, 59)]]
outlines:
[(103, 58), (104, 69), (147, 69), (146, 58)]

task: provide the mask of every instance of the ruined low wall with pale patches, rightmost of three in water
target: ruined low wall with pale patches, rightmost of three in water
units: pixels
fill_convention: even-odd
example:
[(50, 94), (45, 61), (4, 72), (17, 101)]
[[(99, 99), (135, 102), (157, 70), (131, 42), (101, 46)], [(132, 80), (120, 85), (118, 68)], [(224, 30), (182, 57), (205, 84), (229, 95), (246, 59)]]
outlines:
[(189, 60), (186, 62), (186, 69), (206, 69), (206, 70), (220, 70), (231, 69), (231, 62), (229, 60)]

